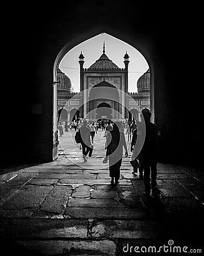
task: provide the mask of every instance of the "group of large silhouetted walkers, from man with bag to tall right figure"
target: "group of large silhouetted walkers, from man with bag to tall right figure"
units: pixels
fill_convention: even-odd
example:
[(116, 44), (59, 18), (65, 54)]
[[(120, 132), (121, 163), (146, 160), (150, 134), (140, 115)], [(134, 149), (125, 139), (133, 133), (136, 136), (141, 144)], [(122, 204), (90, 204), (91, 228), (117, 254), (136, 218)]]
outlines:
[[(151, 122), (151, 112), (148, 109), (142, 111), (143, 121), (145, 123), (145, 139), (144, 144), (141, 147), (139, 154), (135, 159), (131, 159), (134, 174), (138, 172), (140, 179), (144, 179), (145, 195), (149, 196), (151, 187), (155, 188), (156, 176), (157, 176), (157, 152), (158, 152), (158, 134), (157, 126)], [(122, 121), (116, 121), (114, 123), (107, 122), (107, 125), (103, 128), (105, 130), (106, 137), (106, 156), (103, 163), (109, 161), (109, 175), (111, 177), (110, 183), (118, 184), (120, 179), (120, 167), (123, 158), (123, 148), (125, 151), (125, 157), (128, 156), (126, 139), (124, 137), (125, 125)], [(128, 135), (128, 141), (131, 141), (132, 156), (134, 152), (138, 150), (136, 141), (140, 139), (140, 122), (133, 121), (126, 126), (126, 134)], [(89, 125), (88, 121), (84, 119), (80, 129), (81, 133), (81, 146), (84, 162), (87, 161), (86, 156), (91, 156), (93, 152), (93, 138), (97, 133), (97, 125), (95, 122)], [(131, 134), (131, 135), (130, 135)], [(151, 173), (151, 180), (150, 180)]]

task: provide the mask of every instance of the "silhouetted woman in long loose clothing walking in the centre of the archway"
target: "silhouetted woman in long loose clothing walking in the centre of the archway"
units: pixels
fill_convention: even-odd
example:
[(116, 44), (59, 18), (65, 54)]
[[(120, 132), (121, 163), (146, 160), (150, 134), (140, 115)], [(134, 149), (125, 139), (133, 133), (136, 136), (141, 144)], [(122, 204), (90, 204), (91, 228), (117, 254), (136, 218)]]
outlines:
[(107, 134), (107, 150), (106, 156), (109, 158), (109, 175), (111, 177), (111, 184), (119, 183), (120, 167), (122, 164), (123, 147), (128, 156), (126, 140), (124, 133), (120, 131), (120, 122), (115, 122), (113, 130)]

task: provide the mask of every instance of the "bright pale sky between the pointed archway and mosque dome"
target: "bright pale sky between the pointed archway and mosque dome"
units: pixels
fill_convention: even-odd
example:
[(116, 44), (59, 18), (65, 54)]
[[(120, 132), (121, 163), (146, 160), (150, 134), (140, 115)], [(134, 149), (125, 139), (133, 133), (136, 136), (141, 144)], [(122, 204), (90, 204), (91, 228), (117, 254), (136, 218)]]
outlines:
[(141, 75), (147, 71), (148, 64), (143, 55), (130, 46), (130, 44), (114, 38), (108, 34), (100, 34), (94, 36), (85, 42), (78, 44), (72, 48), (60, 62), (59, 68), (72, 81), (74, 92), (80, 92), (80, 64), (78, 56), (82, 51), (85, 59), (84, 68), (89, 68), (102, 55), (103, 42), (105, 42), (105, 53), (110, 60), (113, 61), (119, 68), (124, 68), (124, 58), (126, 51), (130, 56), (129, 72), (128, 72), (128, 92), (137, 92), (136, 83)]

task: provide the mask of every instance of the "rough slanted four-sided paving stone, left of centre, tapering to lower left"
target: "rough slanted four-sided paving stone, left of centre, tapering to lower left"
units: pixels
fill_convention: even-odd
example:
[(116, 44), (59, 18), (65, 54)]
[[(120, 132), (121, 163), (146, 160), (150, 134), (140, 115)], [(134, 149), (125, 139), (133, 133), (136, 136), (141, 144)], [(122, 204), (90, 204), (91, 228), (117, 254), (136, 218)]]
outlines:
[(45, 197), (43, 203), (40, 204), (40, 209), (44, 212), (60, 214), (63, 211), (71, 193), (72, 187), (70, 186), (56, 186)]

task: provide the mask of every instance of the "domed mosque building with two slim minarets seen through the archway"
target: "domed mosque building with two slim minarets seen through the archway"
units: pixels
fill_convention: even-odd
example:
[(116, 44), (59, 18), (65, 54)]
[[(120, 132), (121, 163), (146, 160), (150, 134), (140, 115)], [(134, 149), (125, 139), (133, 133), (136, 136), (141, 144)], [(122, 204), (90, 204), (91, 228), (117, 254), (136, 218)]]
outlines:
[[(137, 82), (138, 92), (128, 92), (129, 56), (124, 55), (124, 68), (119, 68), (105, 53), (84, 68), (84, 55), (78, 57), (80, 64), (80, 92), (74, 93), (68, 76), (57, 70), (57, 109), (59, 120), (73, 121), (87, 118), (131, 121), (140, 119), (142, 109), (150, 109), (150, 72), (149, 69)], [(124, 93), (123, 93), (124, 92)]]

